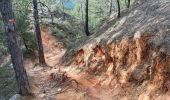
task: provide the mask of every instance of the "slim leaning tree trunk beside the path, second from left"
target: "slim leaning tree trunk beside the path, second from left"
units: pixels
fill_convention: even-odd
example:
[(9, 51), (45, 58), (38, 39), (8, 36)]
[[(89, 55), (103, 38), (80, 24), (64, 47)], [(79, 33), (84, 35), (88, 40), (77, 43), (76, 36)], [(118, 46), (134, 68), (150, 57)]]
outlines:
[(38, 54), (39, 54), (39, 63), (46, 64), (45, 58), (44, 58), (44, 50), (42, 45), (42, 38), (41, 38), (41, 30), (40, 30), (40, 24), (39, 24), (39, 16), (38, 16), (38, 6), (37, 6), (37, 0), (33, 0), (33, 10), (34, 10), (34, 24), (35, 24), (35, 34), (38, 42)]

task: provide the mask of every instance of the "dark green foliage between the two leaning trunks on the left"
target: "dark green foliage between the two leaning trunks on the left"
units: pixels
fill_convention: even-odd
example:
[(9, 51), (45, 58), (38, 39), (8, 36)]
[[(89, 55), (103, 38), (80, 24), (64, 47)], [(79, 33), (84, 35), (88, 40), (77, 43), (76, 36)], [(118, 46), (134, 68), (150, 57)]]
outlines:
[(25, 9), (23, 8), (22, 12), (16, 10), (15, 15), (17, 33), (21, 37), (21, 40), (23, 41), (23, 44), (25, 45), (26, 49), (34, 51), (35, 49), (37, 49), (37, 44), (35, 35), (32, 32), (30, 32), (31, 23), (28, 16), (29, 10), (27, 8)]

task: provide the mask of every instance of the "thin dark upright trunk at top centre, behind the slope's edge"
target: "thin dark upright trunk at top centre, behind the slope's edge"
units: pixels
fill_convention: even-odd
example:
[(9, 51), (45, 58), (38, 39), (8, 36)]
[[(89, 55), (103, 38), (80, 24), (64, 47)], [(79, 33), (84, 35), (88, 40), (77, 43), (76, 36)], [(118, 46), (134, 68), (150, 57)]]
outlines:
[(89, 32), (89, 14), (88, 14), (88, 6), (89, 6), (89, 0), (86, 0), (86, 3), (85, 3), (85, 26), (84, 26), (84, 30), (85, 30), (85, 33), (87, 36), (90, 35), (90, 32)]

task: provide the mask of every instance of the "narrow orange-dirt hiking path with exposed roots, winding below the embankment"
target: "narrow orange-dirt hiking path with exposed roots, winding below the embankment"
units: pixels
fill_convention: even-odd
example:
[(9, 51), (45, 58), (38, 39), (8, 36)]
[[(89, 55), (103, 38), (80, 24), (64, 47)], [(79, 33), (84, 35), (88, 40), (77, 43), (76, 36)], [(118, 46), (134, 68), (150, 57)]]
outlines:
[[(42, 31), (42, 40), (48, 67), (35, 66), (37, 61), (25, 60), (36, 100), (112, 100), (113, 89), (101, 88), (98, 85), (101, 78), (93, 78), (77, 71), (74, 67), (64, 67), (60, 64), (66, 49), (48, 28)], [(55, 77), (60, 76), (59, 73), (63, 75), (63, 72), (66, 72), (66, 81), (55, 87), (57, 82), (60, 82)]]

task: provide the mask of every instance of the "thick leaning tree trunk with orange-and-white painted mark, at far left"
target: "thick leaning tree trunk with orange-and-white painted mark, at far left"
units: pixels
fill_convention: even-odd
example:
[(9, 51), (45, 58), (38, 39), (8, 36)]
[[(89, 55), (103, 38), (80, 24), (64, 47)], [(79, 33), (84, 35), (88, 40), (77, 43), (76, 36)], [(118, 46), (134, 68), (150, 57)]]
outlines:
[(11, 54), (19, 93), (21, 95), (28, 95), (30, 94), (30, 87), (27, 73), (24, 68), (21, 46), (19, 40), (17, 39), (17, 33), (15, 29), (16, 25), (11, 0), (0, 0), (0, 11), (4, 21), (8, 49)]

